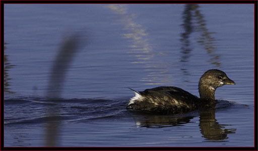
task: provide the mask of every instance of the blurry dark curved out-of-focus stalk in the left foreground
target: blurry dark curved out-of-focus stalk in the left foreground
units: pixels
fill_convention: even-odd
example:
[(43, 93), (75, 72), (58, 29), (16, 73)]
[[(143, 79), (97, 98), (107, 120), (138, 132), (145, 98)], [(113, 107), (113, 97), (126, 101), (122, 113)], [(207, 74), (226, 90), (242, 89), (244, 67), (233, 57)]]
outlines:
[[(53, 101), (53, 99), (61, 97), (60, 95), (67, 70), (78, 49), (78, 40), (79, 36), (73, 35), (65, 38), (61, 44), (49, 75), (47, 90), (48, 101)], [(60, 126), (59, 112), (59, 104), (51, 103), (47, 106), (45, 146), (57, 145)]]

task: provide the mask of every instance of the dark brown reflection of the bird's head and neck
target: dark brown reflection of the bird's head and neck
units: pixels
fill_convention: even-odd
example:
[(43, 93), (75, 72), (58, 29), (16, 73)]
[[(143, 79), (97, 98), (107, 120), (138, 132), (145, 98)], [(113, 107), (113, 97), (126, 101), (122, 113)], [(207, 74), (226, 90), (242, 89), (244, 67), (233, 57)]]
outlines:
[(235, 133), (236, 129), (226, 129), (219, 124), (215, 118), (215, 109), (200, 111), (200, 131), (206, 140), (224, 140), (227, 139), (227, 134)]

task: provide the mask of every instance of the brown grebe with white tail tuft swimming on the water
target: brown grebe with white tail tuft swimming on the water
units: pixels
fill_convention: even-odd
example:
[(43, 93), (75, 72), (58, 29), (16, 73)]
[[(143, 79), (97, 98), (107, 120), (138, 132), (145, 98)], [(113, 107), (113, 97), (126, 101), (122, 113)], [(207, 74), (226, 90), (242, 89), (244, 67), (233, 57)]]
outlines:
[(215, 90), (223, 85), (235, 85), (226, 73), (218, 69), (206, 71), (198, 85), (200, 98), (177, 87), (156, 87), (135, 92), (126, 109), (160, 113), (183, 113), (209, 107), (215, 103)]

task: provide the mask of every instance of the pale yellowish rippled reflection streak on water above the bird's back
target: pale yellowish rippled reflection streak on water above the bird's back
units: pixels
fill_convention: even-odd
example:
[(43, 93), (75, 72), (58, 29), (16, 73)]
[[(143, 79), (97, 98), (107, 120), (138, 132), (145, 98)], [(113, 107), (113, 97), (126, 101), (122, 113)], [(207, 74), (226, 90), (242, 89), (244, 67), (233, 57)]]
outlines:
[(123, 34), (123, 36), (133, 42), (130, 46), (131, 51), (127, 53), (133, 54), (137, 60), (131, 63), (143, 64), (143, 67), (148, 72), (147, 77), (143, 78), (141, 81), (145, 82), (147, 85), (166, 83), (167, 77), (164, 76), (160, 78), (160, 76), (167, 72), (166, 68), (164, 68), (164, 64), (153, 65), (148, 62), (148, 60), (154, 57), (154, 52), (147, 38), (148, 33), (146, 33), (145, 29), (140, 24), (134, 22), (134, 19), (137, 17), (136, 14), (128, 15), (125, 5), (112, 4), (108, 5), (108, 8), (122, 17), (121, 22), (124, 24), (124, 30), (127, 32)]

